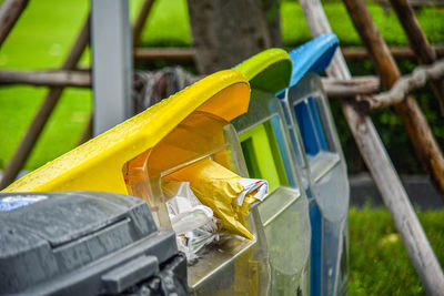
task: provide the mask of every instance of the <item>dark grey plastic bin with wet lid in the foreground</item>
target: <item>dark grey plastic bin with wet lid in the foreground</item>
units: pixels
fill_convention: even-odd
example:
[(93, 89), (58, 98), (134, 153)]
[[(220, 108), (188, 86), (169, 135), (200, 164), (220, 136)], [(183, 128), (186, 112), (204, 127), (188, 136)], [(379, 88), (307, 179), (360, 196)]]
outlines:
[(140, 198), (0, 194), (1, 295), (188, 295), (175, 234)]

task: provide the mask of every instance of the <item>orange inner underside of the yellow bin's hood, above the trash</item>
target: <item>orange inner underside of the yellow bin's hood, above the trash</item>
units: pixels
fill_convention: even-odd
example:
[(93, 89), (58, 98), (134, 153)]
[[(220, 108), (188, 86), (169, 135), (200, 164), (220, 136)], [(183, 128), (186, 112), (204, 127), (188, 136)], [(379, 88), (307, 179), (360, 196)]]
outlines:
[(232, 165), (230, 145), (223, 134), (226, 124), (212, 114), (196, 111), (155, 146), (123, 166), (129, 194), (147, 201), (158, 226), (171, 228), (161, 190), (162, 176), (209, 155), (224, 166)]

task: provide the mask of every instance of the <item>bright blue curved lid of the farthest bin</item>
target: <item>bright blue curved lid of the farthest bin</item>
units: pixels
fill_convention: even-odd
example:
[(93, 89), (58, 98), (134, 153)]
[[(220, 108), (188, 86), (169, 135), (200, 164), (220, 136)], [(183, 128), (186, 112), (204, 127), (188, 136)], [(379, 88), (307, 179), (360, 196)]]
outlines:
[[(294, 86), (306, 72), (322, 72), (333, 58), (339, 39), (333, 33), (320, 35), (289, 52), (293, 71), (289, 88)], [(282, 91), (279, 93), (281, 94)]]

